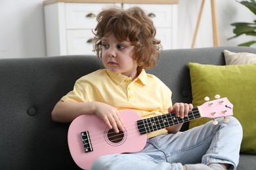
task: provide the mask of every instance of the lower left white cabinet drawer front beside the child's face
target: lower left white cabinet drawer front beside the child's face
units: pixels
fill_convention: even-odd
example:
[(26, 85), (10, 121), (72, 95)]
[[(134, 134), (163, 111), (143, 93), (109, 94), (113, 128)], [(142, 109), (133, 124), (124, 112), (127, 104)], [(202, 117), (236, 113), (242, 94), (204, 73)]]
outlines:
[(67, 30), (68, 55), (95, 54), (91, 29)]

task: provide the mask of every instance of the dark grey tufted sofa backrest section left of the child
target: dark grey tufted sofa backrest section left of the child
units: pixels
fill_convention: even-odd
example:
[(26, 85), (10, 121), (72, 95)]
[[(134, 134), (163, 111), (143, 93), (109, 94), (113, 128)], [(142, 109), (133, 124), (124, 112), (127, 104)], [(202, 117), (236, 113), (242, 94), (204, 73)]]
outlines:
[(95, 56), (0, 59), (0, 169), (75, 169), (69, 124), (51, 111), (77, 78), (101, 68)]

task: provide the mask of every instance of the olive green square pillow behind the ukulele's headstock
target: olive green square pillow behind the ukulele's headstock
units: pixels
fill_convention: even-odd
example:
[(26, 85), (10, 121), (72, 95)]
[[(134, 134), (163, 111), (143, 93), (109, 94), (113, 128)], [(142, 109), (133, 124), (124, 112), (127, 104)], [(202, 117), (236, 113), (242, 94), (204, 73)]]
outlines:
[[(256, 63), (244, 65), (203, 65), (189, 63), (194, 107), (204, 97), (214, 100), (216, 94), (227, 97), (234, 105), (233, 116), (243, 127), (240, 152), (256, 154)], [(189, 128), (205, 124), (208, 118), (193, 120)], [(228, 141), (227, 141), (228, 142)]]

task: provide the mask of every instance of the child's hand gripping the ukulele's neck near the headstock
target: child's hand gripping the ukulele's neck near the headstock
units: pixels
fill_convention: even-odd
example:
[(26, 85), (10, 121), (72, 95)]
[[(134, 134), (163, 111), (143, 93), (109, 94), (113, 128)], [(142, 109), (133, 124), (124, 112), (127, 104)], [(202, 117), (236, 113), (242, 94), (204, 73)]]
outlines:
[(175, 103), (172, 107), (169, 107), (169, 112), (175, 112), (178, 118), (184, 118), (188, 116), (188, 112), (193, 109), (192, 104), (187, 103)]

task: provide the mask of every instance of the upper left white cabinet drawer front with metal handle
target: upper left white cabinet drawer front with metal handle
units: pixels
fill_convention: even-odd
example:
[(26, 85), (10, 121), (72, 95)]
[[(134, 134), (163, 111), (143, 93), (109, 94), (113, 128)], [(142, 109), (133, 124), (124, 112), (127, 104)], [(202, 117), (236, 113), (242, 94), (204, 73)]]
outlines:
[(66, 3), (66, 29), (87, 29), (96, 26), (96, 16), (105, 7), (119, 3)]

